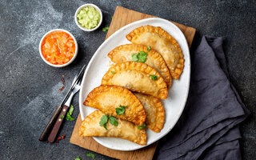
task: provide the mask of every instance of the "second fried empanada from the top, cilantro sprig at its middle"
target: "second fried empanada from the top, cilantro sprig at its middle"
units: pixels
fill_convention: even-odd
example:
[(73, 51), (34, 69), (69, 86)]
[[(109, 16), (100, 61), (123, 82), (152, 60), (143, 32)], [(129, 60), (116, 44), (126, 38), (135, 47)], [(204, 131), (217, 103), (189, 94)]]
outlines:
[(133, 54), (138, 54), (140, 51), (146, 52), (146, 64), (152, 66), (154, 70), (157, 70), (159, 74), (164, 78), (167, 87), (170, 88), (171, 85), (171, 77), (168, 66), (166, 66), (165, 60), (162, 58), (161, 54), (158, 54), (155, 50), (147, 50), (146, 46), (136, 45), (136, 44), (126, 44), (122, 46), (118, 46), (111, 50), (109, 54), (109, 58), (112, 62), (122, 63), (132, 60)]

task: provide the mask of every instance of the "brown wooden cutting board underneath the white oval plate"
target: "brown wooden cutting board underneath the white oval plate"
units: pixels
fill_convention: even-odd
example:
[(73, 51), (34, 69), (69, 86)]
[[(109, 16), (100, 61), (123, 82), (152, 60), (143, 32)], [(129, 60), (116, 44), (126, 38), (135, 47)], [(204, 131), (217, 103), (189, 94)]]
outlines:
[[(114, 12), (112, 22), (110, 24), (110, 29), (106, 34), (106, 38), (109, 38), (110, 35), (114, 34), (115, 31), (119, 30), (122, 26), (126, 26), (131, 22), (135, 22), (144, 18), (154, 18), (154, 17), (155, 16), (142, 14), (134, 10), (128, 10), (121, 6), (117, 6)], [(195, 34), (195, 29), (190, 26), (184, 26), (184, 25), (178, 24), (177, 22), (174, 22), (174, 24), (178, 26), (180, 30), (182, 30), (183, 34), (186, 37), (186, 41), (188, 42), (188, 45), (191, 46), (194, 38), (194, 34)], [(118, 158), (118, 159), (126, 159), (126, 160), (143, 159), (144, 160), (144, 159), (152, 159), (154, 156), (154, 151), (158, 145), (158, 142), (154, 142), (150, 146), (146, 146), (140, 150), (134, 150), (134, 151), (111, 150), (106, 148), (105, 146), (98, 144), (98, 142), (94, 141), (93, 138), (79, 137), (78, 128), (81, 125), (81, 123), (82, 123), (81, 115), (79, 114), (77, 118), (77, 122), (75, 123), (75, 126), (74, 126), (73, 133), (70, 138), (70, 143), (81, 146), (82, 148), (85, 148), (87, 150), (92, 150), (99, 154), (104, 154), (106, 156), (109, 156), (112, 158)]]

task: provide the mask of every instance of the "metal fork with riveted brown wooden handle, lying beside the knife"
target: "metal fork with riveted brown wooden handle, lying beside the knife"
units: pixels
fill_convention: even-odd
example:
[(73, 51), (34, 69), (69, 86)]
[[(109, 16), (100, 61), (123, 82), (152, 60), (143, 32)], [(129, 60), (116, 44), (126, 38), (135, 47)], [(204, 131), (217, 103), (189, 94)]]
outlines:
[(54, 140), (58, 134), (58, 130), (62, 126), (63, 119), (66, 117), (66, 113), (70, 109), (70, 104), (71, 104), (72, 98), (73, 98), (74, 94), (76, 94), (81, 88), (81, 82), (82, 82), (82, 77), (78, 79), (78, 81), (76, 82), (76, 84), (74, 86), (74, 89), (70, 93), (69, 98), (66, 100), (64, 106), (62, 107), (62, 112), (59, 114), (58, 119), (55, 122), (54, 127), (50, 132), (50, 135), (48, 137), (48, 142), (54, 142)]

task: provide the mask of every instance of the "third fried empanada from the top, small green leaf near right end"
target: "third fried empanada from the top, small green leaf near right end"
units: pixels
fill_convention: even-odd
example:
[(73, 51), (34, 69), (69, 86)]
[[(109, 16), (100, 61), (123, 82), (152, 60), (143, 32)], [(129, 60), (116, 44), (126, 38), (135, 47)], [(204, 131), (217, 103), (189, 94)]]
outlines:
[(102, 85), (124, 86), (128, 90), (154, 97), (167, 98), (167, 86), (158, 71), (142, 62), (123, 62), (110, 68), (102, 78)]

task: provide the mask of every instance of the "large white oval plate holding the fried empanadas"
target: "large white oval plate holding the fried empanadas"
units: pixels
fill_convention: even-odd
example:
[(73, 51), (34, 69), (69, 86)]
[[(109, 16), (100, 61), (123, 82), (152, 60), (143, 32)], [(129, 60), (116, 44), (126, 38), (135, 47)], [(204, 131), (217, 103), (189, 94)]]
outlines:
[[(175, 26), (172, 22), (162, 18), (146, 18), (122, 27), (120, 30), (112, 34), (110, 38), (107, 38), (106, 41), (98, 47), (98, 50), (90, 59), (85, 74), (82, 78), (82, 88), (79, 94), (79, 109), (82, 120), (95, 110), (94, 108), (91, 108), (89, 106), (84, 106), (82, 103), (84, 102), (87, 94), (89, 94), (91, 90), (101, 85), (103, 75), (106, 73), (107, 70), (109, 70), (110, 58), (107, 57), (107, 54), (116, 46), (130, 43), (126, 39), (126, 34), (130, 33), (130, 31), (134, 30), (139, 26), (146, 25), (161, 26), (162, 29), (166, 30), (178, 41), (178, 44), (181, 46), (182, 53), (184, 54), (185, 58), (184, 70), (181, 77), (178, 81), (173, 80), (172, 86), (169, 90), (168, 98), (162, 101), (163, 106), (166, 110), (166, 122), (161, 132), (154, 133), (149, 129), (146, 130), (146, 146), (148, 146), (168, 134), (170, 130), (174, 127), (185, 107), (186, 98), (190, 87), (190, 50), (184, 34), (182, 34), (182, 31), (179, 30), (179, 28)], [(94, 137), (94, 139), (102, 146), (106, 146), (113, 150), (138, 150), (142, 147), (145, 147), (120, 138)]]

